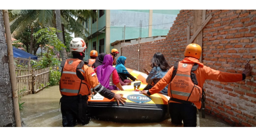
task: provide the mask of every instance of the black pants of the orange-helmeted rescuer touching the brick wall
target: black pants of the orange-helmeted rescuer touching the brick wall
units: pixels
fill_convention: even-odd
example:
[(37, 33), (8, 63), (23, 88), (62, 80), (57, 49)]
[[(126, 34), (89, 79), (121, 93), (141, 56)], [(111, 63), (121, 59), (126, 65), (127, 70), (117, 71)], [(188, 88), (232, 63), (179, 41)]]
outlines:
[(170, 103), (169, 104), (170, 116), (173, 124), (184, 127), (196, 127), (197, 126), (197, 108), (189, 104)]

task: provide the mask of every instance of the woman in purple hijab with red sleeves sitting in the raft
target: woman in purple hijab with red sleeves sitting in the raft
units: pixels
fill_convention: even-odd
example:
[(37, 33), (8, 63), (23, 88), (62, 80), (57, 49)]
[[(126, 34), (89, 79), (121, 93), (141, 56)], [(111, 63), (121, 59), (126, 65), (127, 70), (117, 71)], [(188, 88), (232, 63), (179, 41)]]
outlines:
[(107, 54), (104, 56), (102, 65), (99, 65), (94, 69), (97, 74), (99, 83), (109, 90), (122, 90), (123, 87), (120, 84), (119, 76), (116, 68), (112, 66), (113, 58)]

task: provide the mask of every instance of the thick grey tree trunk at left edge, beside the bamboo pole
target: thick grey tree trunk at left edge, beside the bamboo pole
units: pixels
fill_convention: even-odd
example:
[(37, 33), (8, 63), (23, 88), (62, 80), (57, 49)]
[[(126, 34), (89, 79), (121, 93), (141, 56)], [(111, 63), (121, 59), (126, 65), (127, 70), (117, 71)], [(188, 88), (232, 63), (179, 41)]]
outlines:
[(0, 10), (0, 127), (15, 127), (3, 15)]

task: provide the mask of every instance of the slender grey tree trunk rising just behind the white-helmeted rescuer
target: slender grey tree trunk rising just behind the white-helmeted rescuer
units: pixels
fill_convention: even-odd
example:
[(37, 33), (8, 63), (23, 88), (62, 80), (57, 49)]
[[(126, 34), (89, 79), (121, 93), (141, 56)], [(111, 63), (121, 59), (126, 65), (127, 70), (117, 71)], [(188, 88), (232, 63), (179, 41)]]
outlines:
[[(61, 10), (55, 10), (55, 14), (56, 14), (56, 28), (57, 30), (61, 31)], [(63, 35), (61, 32), (57, 32), (57, 36), (59, 38), (59, 40), (64, 44), (64, 39), (63, 39)], [(67, 51), (66, 48), (62, 48), (61, 52), (61, 59), (65, 60), (67, 59)]]

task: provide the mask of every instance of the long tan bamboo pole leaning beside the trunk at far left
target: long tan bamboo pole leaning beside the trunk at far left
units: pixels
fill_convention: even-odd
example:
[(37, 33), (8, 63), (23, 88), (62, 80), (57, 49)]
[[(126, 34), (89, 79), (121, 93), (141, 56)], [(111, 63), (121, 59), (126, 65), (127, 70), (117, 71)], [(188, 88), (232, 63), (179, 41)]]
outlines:
[(6, 35), (6, 42), (7, 42), (10, 79), (12, 84), (12, 99), (13, 99), (15, 122), (16, 122), (16, 127), (21, 127), (19, 98), (18, 98), (18, 92), (17, 92), (15, 68), (13, 63), (12, 39), (11, 39), (8, 10), (3, 10), (3, 22), (5, 25), (5, 35)]

